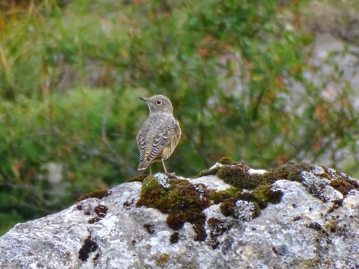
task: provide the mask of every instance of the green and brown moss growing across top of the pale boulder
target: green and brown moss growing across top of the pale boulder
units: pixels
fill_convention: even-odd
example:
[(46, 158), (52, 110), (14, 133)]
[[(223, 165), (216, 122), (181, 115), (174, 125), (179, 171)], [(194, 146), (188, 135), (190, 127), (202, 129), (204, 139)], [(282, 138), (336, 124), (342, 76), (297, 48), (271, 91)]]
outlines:
[[(202, 211), (205, 208), (213, 204), (220, 204), (224, 216), (249, 221), (259, 216), (262, 209), (266, 208), (269, 203), (280, 202), (283, 193), (280, 190), (272, 190), (272, 184), (276, 180), (286, 179), (303, 183), (303, 171), (314, 173), (313, 171), (320, 167), (307, 163), (288, 162), (262, 174), (250, 174), (248, 173), (250, 167), (244, 163), (236, 163), (227, 157), (222, 158), (219, 162), (221, 166), (202, 171), (197, 177), (217, 175), (218, 178), (232, 185), (232, 188), (216, 192), (207, 189), (203, 184), (192, 184), (185, 179), (173, 178), (168, 178), (166, 182), (169, 184), (164, 187), (153, 176), (146, 176), (143, 180), (140, 199), (136, 205), (156, 208), (167, 213), (166, 223), (174, 231), (180, 229), (185, 222), (190, 222), (196, 232), (195, 239), (204, 241), (207, 237), (204, 230), (206, 216)], [(317, 174), (316, 172), (315, 176), (332, 180), (330, 173), (334, 170), (329, 171), (325, 167), (320, 168), (323, 169), (323, 173)], [(338, 172), (336, 177), (331, 181), (330, 186), (343, 194), (359, 187), (357, 181), (344, 174)], [(215, 223), (215, 221), (211, 222), (211, 227)], [(218, 225), (223, 226), (224, 224), (219, 221)], [(218, 229), (212, 228), (222, 231), (220, 227)], [(172, 244), (177, 242), (178, 233), (174, 232), (169, 240)], [(216, 240), (214, 238), (210, 240), (213, 247), (216, 247)]]

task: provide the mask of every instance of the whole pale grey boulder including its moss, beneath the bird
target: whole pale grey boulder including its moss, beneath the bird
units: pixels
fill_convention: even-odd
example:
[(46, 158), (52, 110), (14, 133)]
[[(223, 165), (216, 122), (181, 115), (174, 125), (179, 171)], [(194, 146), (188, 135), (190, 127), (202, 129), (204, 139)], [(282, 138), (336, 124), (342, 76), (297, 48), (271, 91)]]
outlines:
[[(17, 224), (0, 237), (0, 268), (359, 266), (358, 180), (310, 164), (216, 169), (196, 179), (158, 173)], [(247, 171), (258, 186), (231, 187), (220, 169)], [(183, 221), (174, 229), (173, 216)]]

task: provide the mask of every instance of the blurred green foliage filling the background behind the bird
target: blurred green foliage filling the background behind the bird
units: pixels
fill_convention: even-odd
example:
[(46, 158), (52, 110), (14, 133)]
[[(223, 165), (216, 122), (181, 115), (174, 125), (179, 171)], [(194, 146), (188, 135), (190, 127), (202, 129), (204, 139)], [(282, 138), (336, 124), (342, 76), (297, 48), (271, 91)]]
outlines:
[(303, 78), (312, 36), (296, 1), (60, 4), (0, 3), (0, 234), (139, 175), (138, 96), (171, 99), (182, 138), (166, 165), (178, 175), (225, 155), (263, 169), (324, 156), (335, 168), (343, 148), (341, 168), (358, 172), (351, 88), (330, 103)]

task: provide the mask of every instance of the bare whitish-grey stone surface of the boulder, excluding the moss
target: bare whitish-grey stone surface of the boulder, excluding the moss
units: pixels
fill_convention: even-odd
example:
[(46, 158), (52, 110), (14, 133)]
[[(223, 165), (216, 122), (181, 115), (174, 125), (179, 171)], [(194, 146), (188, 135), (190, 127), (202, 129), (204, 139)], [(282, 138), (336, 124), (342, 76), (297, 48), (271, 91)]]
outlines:
[[(313, 172), (309, 178), (315, 176)], [(225, 185), (216, 176), (191, 182), (213, 189)], [(141, 185), (123, 183), (101, 200), (88, 198), (59, 213), (16, 225), (0, 237), (0, 268), (349, 269), (359, 266), (358, 190), (351, 190), (342, 206), (334, 208), (329, 198), (338, 198), (338, 194), (333, 188), (327, 186), (323, 195), (329, 198), (323, 202), (301, 183), (278, 180), (273, 189), (283, 192), (281, 202), (269, 204), (259, 217), (250, 221), (224, 217), (219, 205), (210, 206), (204, 210), (207, 220), (216, 218), (223, 222), (221, 227), (226, 223), (232, 226), (216, 237), (218, 246), (213, 249), (210, 235), (215, 231), (208, 223), (204, 242), (194, 241), (193, 226), (185, 223), (178, 230), (178, 242), (171, 244), (169, 237), (174, 231), (165, 223), (167, 215), (153, 208), (135, 206)], [(99, 204), (108, 207), (107, 214), (93, 224), (88, 223), (96, 216), (93, 209)], [(78, 209), (79, 205), (82, 210)], [(90, 216), (84, 212), (90, 212)]]

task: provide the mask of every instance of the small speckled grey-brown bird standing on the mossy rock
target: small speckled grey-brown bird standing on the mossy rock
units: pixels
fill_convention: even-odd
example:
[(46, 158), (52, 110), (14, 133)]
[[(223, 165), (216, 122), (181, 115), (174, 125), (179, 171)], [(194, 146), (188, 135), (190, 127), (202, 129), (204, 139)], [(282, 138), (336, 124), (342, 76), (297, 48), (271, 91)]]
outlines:
[(139, 97), (145, 101), (150, 115), (137, 134), (137, 147), (140, 152), (140, 164), (137, 170), (145, 170), (155, 161), (161, 161), (163, 170), (167, 170), (164, 160), (171, 156), (181, 137), (180, 123), (173, 117), (171, 101), (164, 95), (150, 98)]

